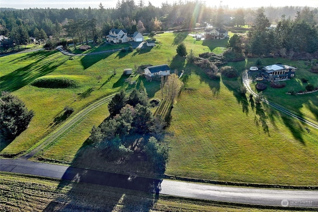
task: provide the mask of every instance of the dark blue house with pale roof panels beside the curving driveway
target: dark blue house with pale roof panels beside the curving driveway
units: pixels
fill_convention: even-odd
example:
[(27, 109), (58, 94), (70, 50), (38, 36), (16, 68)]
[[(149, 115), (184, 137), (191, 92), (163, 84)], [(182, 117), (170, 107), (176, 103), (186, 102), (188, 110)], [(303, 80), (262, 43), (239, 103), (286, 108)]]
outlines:
[(270, 66), (265, 66), (261, 69), (262, 73), (267, 76), (270, 80), (281, 81), (291, 79), (295, 76), (296, 72), (295, 67), (283, 65), (283, 64), (274, 64)]

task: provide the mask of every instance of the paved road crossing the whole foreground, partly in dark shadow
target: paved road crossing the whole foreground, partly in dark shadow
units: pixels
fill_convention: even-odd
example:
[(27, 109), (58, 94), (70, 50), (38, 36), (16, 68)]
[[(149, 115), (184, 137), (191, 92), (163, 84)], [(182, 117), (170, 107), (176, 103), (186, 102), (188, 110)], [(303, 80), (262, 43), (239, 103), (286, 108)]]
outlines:
[(0, 159), (0, 171), (54, 177), (78, 182), (196, 199), (266, 205), (318, 208), (318, 191), (257, 189), (159, 180), (101, 172), (26, 159)]

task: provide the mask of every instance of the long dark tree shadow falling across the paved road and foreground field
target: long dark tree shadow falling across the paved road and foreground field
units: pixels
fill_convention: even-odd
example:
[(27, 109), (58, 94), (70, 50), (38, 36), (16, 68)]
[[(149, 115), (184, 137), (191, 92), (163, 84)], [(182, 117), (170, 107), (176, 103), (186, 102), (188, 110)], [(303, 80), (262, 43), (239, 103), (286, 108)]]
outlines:
[[(85, 141), (62, 177), (57, 192), (67, 191), (64, 198), (57, 198), (46, 207), (51, 211), (143, 211), (148, 212), (158, 200), (161, 179), (138, 177), (144, 171), (140, 159), (119, 158), (107, 162), (107, 152)], [(141, 161), (142, 162), (142, 161)], [(85, 167), (85, 169), (77, 167)], [(124, 168), (123, 168), (124, 167)], [(126, 167), (126, 168), (125, 168)], [(110, 168), (112, 172), (97, 169)], [(114, 173), (126, 170), (127, 173)]]

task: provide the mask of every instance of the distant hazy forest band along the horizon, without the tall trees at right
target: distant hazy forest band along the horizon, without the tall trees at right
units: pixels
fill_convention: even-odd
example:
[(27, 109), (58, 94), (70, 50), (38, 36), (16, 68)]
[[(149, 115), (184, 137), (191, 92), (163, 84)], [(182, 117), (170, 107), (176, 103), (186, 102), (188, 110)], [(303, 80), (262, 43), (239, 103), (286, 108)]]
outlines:
[[(296, 12), (308, 7), (266, 7), (264, 14), (270, 23), (279, 21), (278, 15), (294, 20)], [(311, 9), (317, 22), (318, 10)], [(118, 0), (115, 8), (29, 8), (1, 9), (0, 34), (14, 39), (17, 45), (26, 44), (30, 36), (38, 40), (72, 37), (77, 42), (89, 37), (97, 42), (106, 36), (111, 28), (126, 28), (135, 31), (152, 32), (168, 29), (188, 29), (210, 23), (216, 27), (253, 25), (257, 21), (257, 10), (250, 8), (230, 9), (228, 6), (208, 7), (201, 1), (164, 2), (155, 7), (144, 0)], [(85, 34), (86, 33), (86, 34)]]

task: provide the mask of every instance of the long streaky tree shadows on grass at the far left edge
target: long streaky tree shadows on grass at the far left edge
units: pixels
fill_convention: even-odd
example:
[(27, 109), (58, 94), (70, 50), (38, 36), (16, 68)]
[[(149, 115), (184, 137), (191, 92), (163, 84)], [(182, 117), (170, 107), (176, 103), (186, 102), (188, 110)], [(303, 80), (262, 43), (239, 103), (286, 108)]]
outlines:
[(54, 71), (68, 59), (68, 56), (55, 54), (52, 57), (45, 57), (44, 60), (39, 59), (23, 68), (12, 71), (1, 77), (0, 90), (9, 92), (18, 90), (32, 82), (34, 79)]

